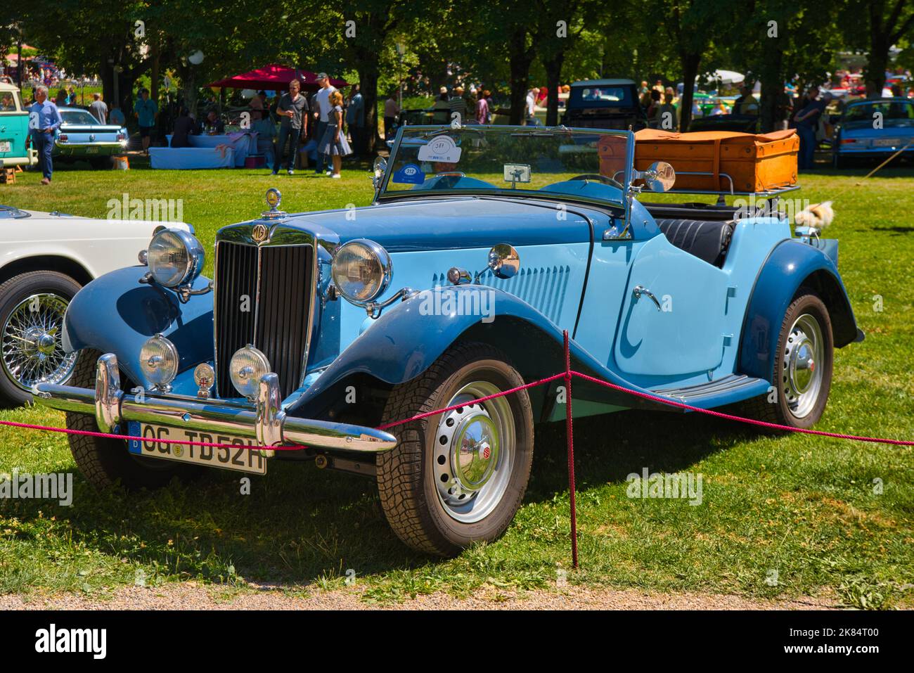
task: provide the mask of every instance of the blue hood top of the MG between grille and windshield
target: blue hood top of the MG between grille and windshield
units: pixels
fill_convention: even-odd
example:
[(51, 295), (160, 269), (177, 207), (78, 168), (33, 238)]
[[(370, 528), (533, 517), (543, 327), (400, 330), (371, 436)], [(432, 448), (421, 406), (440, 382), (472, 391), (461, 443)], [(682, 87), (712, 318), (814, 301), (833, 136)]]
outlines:
[(329, 230), (341, 243), (370, 239), (405, 252), (589, 242), (588, 217), (587, 208), (533, 198), (416, 198), (296, 214), (283, 226)]

